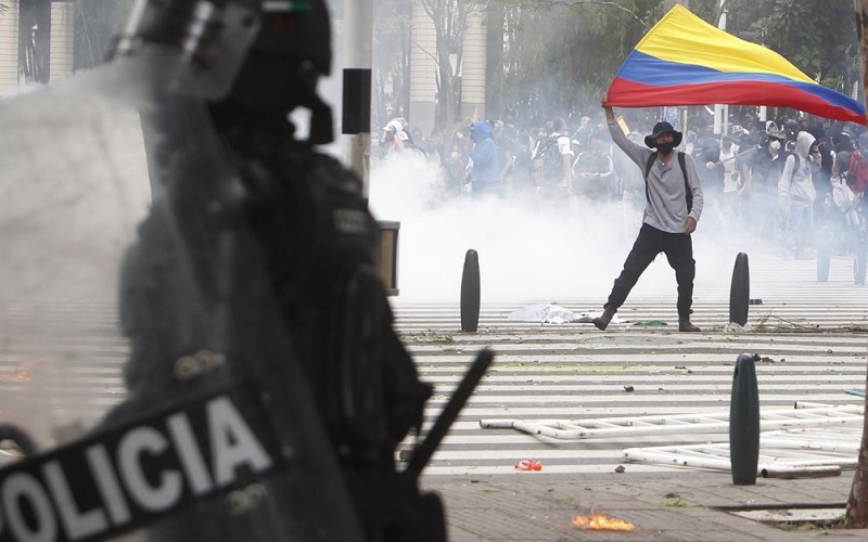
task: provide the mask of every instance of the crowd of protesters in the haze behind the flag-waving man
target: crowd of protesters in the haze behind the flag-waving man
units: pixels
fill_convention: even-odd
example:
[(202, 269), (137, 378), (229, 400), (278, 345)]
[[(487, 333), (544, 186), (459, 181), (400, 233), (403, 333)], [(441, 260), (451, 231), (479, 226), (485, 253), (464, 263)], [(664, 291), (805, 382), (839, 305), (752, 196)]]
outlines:
[[(627, 137), (641, 142), (644, 128)], [(839, 254), (854, 249), (868, 199), (845, 179), (851, 153), (868, 152), (865, 127), (784, 115), (730, 118), (725, 128), (688, 129), (678, 149), (700, 172), (702, 229), (791, 258), (813, 258), (819, 243)], [(556, 117), (535, 129), (475, 120), (427, 138), (414, 131), (403, 118), (390, 122), (376, 157), (424, 157), (441, 170), (443, 199), (498, 196), (541, 212), (620, 203), (636, 214), (646, 205), (642, 172), (613, 144), (600, 113)]]

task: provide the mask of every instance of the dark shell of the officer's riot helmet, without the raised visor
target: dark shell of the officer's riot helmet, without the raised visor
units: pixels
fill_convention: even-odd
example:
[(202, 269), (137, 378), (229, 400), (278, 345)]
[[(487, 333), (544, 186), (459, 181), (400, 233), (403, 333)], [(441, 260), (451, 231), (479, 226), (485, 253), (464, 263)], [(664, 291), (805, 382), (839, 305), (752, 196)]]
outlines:
[(232, 90), (214, 111), (256, 118), (306, 107), (310, 142), (331, 142), (331, 109), (316, 89), (319, 77), (331, 72), (330, 26), (324, 0), (263, 1), (259, 31)]

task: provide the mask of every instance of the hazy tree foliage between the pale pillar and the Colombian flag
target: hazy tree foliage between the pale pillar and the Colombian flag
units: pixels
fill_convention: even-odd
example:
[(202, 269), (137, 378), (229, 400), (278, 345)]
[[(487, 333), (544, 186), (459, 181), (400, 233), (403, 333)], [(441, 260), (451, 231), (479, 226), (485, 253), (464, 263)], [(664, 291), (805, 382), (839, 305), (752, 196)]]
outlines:
[(503, 112), (539, 125), (599, 108), (623, 59), (663, 13), (662, 2), (511, 2), (505, 5)]

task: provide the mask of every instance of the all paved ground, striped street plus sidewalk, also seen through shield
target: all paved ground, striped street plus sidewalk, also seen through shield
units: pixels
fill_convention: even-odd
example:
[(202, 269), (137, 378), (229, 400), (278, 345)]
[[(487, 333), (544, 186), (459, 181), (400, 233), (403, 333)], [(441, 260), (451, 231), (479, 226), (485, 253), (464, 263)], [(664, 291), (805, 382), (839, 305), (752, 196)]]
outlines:
[[(727, 441), (722, 433), (664, 431), (630, 435), (630, 425), (647, 416), (726, 414), (735, 362), (756, 353), (763, 413), (790, 411), (795, 403), (851, 405), (863, 400), (845, 390), (861, 390), (866, 380), (868, 311), (863, 286), (852, 281), (851, 260), (837, 257), (828, 283), (816, 282), (815, 262), (751, 258), (751, 306), (743, 331), (728, 328), (731, 263), (701, 273), (693, 321), (702, 333), (675, 330), (674, 284), (661, 294), (655, 280), (672, 281), (665, 263), (655, 262), (605, 332), (592, 324), (519, 322), (509, 314), (526, 301), (490, 302), (485, 298), (476, 333), (460, 331), (457, 302), (421, 302), (392, 298), (397, 327), (422, 377), (436, 386), (426, 418), (433, 421), (480, 349), (490, 347), (495, 363), (446, 441), (423, 474), (423, 487), (443, 495), (449, 511), (452, 542), (516, 540), (824, 540), (858, 539), (861, 532), (813, 531), (803, 537), (735, 518), (725, 506), (832, 505), (840, 515), (853, 470), (819, 479), (761, 479), (739, 487), (722, 470), (629, 461), (624, 451), (651, 447), (694, 447)], [(580, 315), (599, 310), (599, 297), (558, 299)], [(450, 296), (444, 296), (450, 297)], [(454, 297), (454, 296), (452, 296)], [(551, 299), (540, 299), (548, 302)], [(4, 324), (30, 332), (34, 307), (10, 307)], [(41, 435), (40, 413), (67, 423), (98, 418), (123, 397), (118, 370), (126, 346), (117, 337), (113, 307), (98, 301), (56, 301), (38, 307), (41, 332), (3, 344), (0, 388), (3, 413)], [(59, 323), (63, 323), (60, 325)], [(667, 325), (637, 325), (661, 324)], [(55, 325), (59, 324), (59, 325)], [(47, 333), (63, 328), (64, 333)], [(35, 348), (35, 344), (41, 344)], [(53, 351), (63, 373), (40, 362)], [(39, 384), (39, 386), (33, 386)], [(38, 396), (31, 391), (39, 389)], [(631, 390), (628, 390), (631, 389)], [(38, 403), (38, 412), (28, 405)], [(615, 437), (554, 439), (510, 428), (482, 428), (481, 421), (563, 421), (589, 425), (617, 417)], [(665, 429), (665, 427), (663, 427)], [(832, 430), (810, 429), (825, 441), (858, 443), (858, 424)], [(844, 435), (842, 437), (841, 435)], [(848, 439), (848, 440), (847, 440)], [(411, 442), (405, 443), (405, 449)], [(712, 448), (712, 447), (709, 447)], [(846, 448), (846, 447), (844, 447)], [(765, 454), (767, 450), (761, 450)], [(709, 456), (711, 452), (702, 452)], [(702, 454), (701, 454), (702, 455)], [(838, 454), (855, 456), (852, 452)], [(802, 452), (805, 461), (814, 451)], [(515, 463), (536, 460), (538, 473), (516, 473)], [(761, 457), (763, 460), (764, 457)], [(688, 462), (692, 462), (691, 460)], [(571, 518), (592, 508), (639, 526), (633, 533), (578, 532)], [(781, 514), (789, 512), (781, 512)], [(698, 535), (698, 533), (702, 533)]]

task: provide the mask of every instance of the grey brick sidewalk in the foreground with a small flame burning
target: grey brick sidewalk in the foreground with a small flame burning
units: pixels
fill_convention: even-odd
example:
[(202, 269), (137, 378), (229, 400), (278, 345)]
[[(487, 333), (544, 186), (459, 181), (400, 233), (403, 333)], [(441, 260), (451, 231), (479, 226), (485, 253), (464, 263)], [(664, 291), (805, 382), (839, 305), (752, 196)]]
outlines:
[[(844, 514), (853, 470), (827, 478), (757, 478), (755, 486), (735, 486), (729, 473), (678, 470), (672, 474), (592, 475), (584, 479), (522, 472), (497, 476), (430, 476), (422, 487), (446, 504), (450, 542), (523, 541), (801, 541), (868, 539), (864, 529), (795, 528), (803, 518)], [(764, 520), (741, 517), (729, 508), (761, 508)], [(805, 509), (813, 507), (814, 509)], [(820, 511), (818, 508), (833, 508)], [(575, 516), (593, 509), (629, 521), (634, 531), (582, 530)], [(792, 513), (788, 515), (788, 511)], [(773, 518), (780, 518), (781, 522)], [(787, 526), (784, 524), (790, 524)]]

